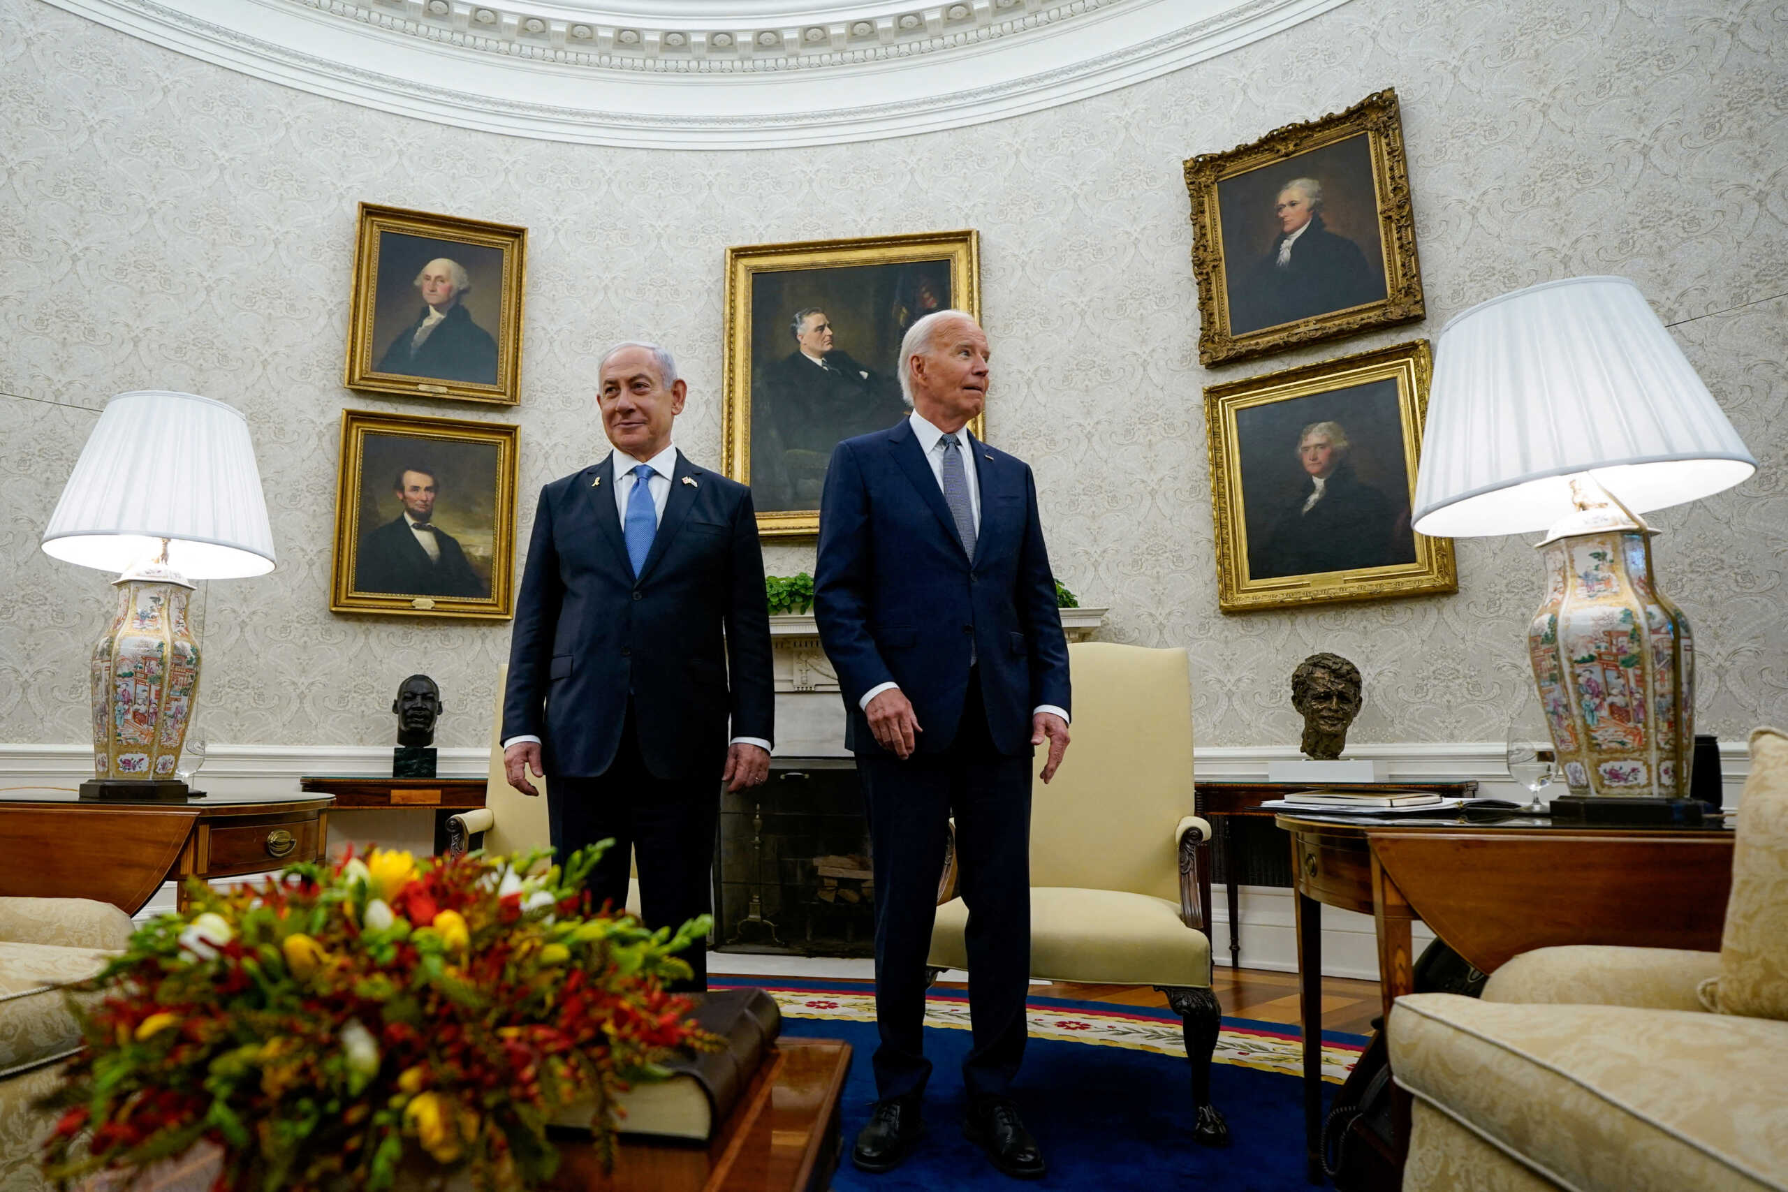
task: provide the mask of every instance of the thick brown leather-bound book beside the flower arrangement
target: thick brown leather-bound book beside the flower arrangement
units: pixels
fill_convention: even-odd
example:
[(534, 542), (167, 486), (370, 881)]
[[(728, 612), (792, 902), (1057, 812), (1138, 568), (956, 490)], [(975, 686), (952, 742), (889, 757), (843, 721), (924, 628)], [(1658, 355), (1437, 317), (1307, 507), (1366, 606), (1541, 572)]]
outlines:
[[(615, 1126), (624, 1135), (708, 1142), (731, 1115), (758, 1063), (781, 1033), (781, 1010), (760, 988), (710, 990), (690, 1013), (721, 1051), (685, 1051), (665, 1062), (672, 1076), (620, 1094)], [(576, 1104), (554, 1126), (588, 1128), (590, 1104)]]

